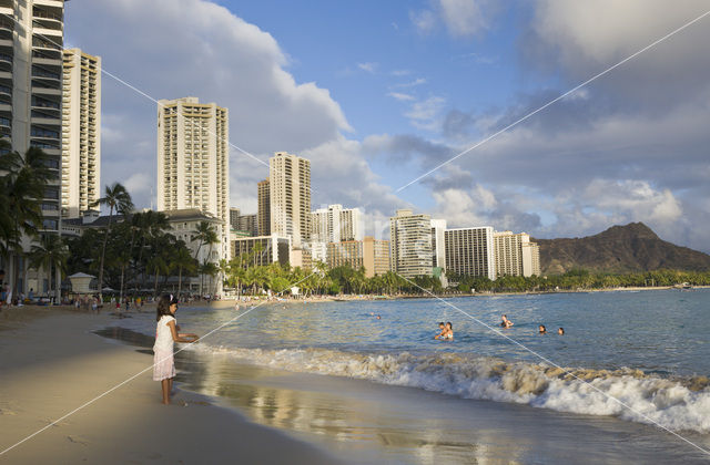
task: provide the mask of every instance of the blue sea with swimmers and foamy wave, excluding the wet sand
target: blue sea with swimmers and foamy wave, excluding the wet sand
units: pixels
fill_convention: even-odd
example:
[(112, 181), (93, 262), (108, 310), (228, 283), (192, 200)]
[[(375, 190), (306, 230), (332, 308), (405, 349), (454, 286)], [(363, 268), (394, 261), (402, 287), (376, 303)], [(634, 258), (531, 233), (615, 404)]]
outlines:
[[(181, 308), (178, 320), (200, 334), (227, 323), (189, 350), (255, 365), (710, 432), (710, 290), (447, 301), (265, 304), (232, 322), (248, 308)], [(453, 342), (433, 339), (438, 321)], [(154, 331), (150, 316), (121, 326)]]

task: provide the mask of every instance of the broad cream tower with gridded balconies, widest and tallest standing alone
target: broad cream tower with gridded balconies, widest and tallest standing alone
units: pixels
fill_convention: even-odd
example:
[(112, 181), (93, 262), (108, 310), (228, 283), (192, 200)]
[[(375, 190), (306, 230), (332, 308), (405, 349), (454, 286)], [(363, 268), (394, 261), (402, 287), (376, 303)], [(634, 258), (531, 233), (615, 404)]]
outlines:
[[(230, 223), (227, 110), (196, 97), (158, 102), (158, 209), (197, 208)], [(222, 228), (221, 257), (230, 256)]]

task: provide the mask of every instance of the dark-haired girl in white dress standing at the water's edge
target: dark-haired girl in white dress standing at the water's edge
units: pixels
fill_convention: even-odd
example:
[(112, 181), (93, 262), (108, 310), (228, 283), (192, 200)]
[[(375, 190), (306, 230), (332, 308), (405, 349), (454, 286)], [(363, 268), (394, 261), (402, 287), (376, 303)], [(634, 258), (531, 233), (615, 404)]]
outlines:
[(174, 342), (195, 342), (199, 337), (193, 333), (179, 333), (175, 321), (178, 299), (172, 293), (163, 294), (158, 302), (155, 319), (155, 344), (153, 345), (153, 381), (161, 382), (163, 404), (170, 404), (170, 392), (175, 378), (175, 362), (173, 358)]

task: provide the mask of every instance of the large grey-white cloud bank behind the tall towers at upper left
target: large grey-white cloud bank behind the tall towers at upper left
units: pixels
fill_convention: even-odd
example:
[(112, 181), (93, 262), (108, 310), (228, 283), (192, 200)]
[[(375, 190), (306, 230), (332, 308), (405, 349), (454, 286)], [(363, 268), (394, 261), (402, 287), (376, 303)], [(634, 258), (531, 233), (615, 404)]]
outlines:
[[(100, 54), (106, 71), (154, 99), (187, 95), (230, 110), (230, 140), (266, 159), (300, 153), (352, 131), (326, 89), (297, 83), (288, 59), (267, 32), (202, 0), (92, 0), (67, 4), (68, 41)], [(126, 34), (130, 31), (130, 34)], [(150, 46), (146, 46), (150, 44)], [(102, 183), (155, 183), (156, 104), (102, 76)], [(232, 202), (255, 197), (267, 168), (232, 152)], [(150, 193), (132, 183), (136, 205)]]

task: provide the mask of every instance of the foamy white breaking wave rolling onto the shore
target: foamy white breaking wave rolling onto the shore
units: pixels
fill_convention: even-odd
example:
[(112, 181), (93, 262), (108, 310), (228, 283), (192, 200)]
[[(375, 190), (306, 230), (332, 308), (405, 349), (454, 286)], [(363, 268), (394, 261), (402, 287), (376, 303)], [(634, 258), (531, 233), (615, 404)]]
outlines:
[(420, 388), (463, 399), (515, 402), (560, 412), (611, 415), (672, 431), (710, 432), (710, 380), (640, 370), (559, 369), (468, 354), (352, 353), (326, 349), (243, 349), (196, 344), (276, 369)]

